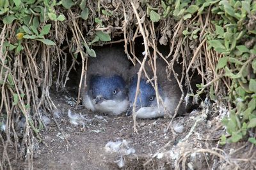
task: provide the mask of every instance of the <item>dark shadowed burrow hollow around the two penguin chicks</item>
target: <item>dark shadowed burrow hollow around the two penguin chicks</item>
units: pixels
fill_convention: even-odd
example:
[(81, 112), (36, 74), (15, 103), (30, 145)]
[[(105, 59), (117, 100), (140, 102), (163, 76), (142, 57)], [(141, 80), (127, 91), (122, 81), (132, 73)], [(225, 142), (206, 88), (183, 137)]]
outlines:
[[(118, 37), (118, 38), (114, 38), (113, 41), (118, 41), (120, 39), (123, 39), (122, 37)], [(142, 53), (145, 51), (144, 50), (144, 44), (143, 44), (143, 38), (139, 37), (135, 39), (136, 41), (134, 41), (134, 53), (136, 55), (136, 57), (138, 57), (138, 59), (143, 59), (143, 55)], [(63, 46), (67, 45), (67, 43), (63, 43)], [(124, 48), (124, 41), (121, 43), (109, 43), (108, 45), (104, 45), (104, 46), (108, 46), (109, 48), (111, 47), (118, 47), (118, 48)], [(102, 48), (102, 46), (91, 46), (90, 48), (92, 48), (93, 50), (97, 50)], [(131, 50), (130, 50), (130, 45), (127, 45), (127, 50), (129, 52), (129, 55), (132, 57), (131, 54)], [(168, 55), (168, 53), (170, 52), (170, 45), (157, 45), (157, 49), (159, 50), (159, 52), (163, 53), (164, 56)], [(74, 62), (74, 55), (70, 55), (69, 49), (66, 48), (65, 49), (65, 53), (67, 53), (67, 57), (66, 62), (67, 62), (67, 70), (70, 68), (70, 66), (72, 66), (72, 62)], [(85, 49), (84, 49), (85, 50)], [(153, 54), (153, 50), (152, 48), (150, 48), (150, 55)], [(96, 54), (97, 55), (97, 54)], [(172, 60), (172, 56), (170, 56), (167, 59), (169, 62), (170, 60)], [(65, 62), (63, 59), (61, 59), (59, 62)], [(68, 74), (68, 80), (67, 83), (65, 84), (65, 87), (63, 87), (63, 84), (65, 83), (65, 78), (66, 75), (63, 76), (63, 80), (62, 80), (62, 85), (58, 85), (57, 84), (57, 80), (56, 78), (58, 77), (58, 66), (59, 63), (56, 64), (56, 71), (54, 72), (56, 75), (54, 75), (54, 82), (55, 84), (52, 85), (51, 91), (52, 92), (61, 92), (63, 94), (67, 93), (68, 96), (74, 97), (74, 99), (77, 99), (77, 94), (78, 94), (78, 89), (79, 89), (79, 81), (81, 78), (81, 66), (82, 66), (82, 59), (81, 59), (81, 55), (80, 53), (77, 53), (77, 59), (76, 59), (76, 64), (74, 64), (74, 66), (72, 67), (72, 69), (70, 70), (70, 73)], [(182, 57), (179, 57), (178, 60), (175, 60), (175, 65), (173, 66), (175, 71), (181, 75), (181, 70), (182, 70)], [(88, 63), (90, 64), (90, 63)], [(130, 62), (130, 67), (132, 67), (132, 62)], [(61, 76), (59, 76), (61, 77)], [(183, 85), (183, 90), (184, 92), (189, 92), (191, 93), (191, 90), (193, 90), (193, 94), (196, 93), (196, 84), (200, 84), (201, 83), (201, 76), (198, 75), (198, 71), (195, 69), (193, 71), (189, 71), (189, 80), (191, 83), (191, 88), (189, 88), (188, 83), (186, 83), (186, 78), (184, 78), (184, 81), (182, 81), (182, 85)], [(191, 108), (188, 109), (188, 111), (192, 111), (193, 109), (198, 107), (198, 104), (200, 103), (200, 101), (202, 101), (204, 99), (204, 95), (200, 96), (201, 100), (197, 101), (197, 103), (194, 103), (193, 105), (191, 105)], [(190, 99), (192, 102), (192, 99)], [(80, 103), (82, 104), (82, 103)]]

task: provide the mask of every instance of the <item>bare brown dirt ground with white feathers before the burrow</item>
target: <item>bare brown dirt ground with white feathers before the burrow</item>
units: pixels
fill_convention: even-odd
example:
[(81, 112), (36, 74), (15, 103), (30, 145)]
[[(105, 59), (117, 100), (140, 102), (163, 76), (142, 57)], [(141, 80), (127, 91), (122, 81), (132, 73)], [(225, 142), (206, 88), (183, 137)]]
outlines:
[[(221, 147), (218, 138), (223, 128), (211, 111), (177, 117), (173, 121), (174, 130), (168, 131), (170, 118), (138, 119), (136, 133), (132, 117), (92, 113), (83, 106), (74, 109), (75, 97), (69, 92), (52, 94), (58, 111), (49, 115), (47, 129), (40, 132), (44, 143), (34, 144), (33, 169), (175, 169), (177, 165), (180, 168), (186, 165), (187, 169), (227, 167), (224, 166), (226, 160), (216, 156), (220, 150), (212, 150)], [(120, 141), (120, 145), (112, 143), (106, 147), (109, 141)], [(227, 152), (230, 146), (226, 147)], [(244, 153), (244, 150), (239, 152)], [(19, 162), (14, 169), (26, 169), (28, 165), (24, 160)]]

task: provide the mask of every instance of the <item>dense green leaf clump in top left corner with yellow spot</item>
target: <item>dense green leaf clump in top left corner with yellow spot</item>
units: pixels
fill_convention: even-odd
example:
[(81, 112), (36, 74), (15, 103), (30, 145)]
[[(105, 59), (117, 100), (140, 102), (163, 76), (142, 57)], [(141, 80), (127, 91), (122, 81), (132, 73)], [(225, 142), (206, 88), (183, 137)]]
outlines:
[[(15, 32), (17, 42), (7, 43), (5, 42), (5, 48), (15, 53), (20, 53), (23, 48), (23, 39), (35, 39), (41, 41), (46, 45), (55, 45), (55, 43), (45, 38), (51, 29), (51, 24), (47, 22), (63, 21), (65, 16), (58, 15), (54, 8), (61, 3), (56, 1), (1, 1), (0, 3), (0, 15), (3, 15), (4, 24), (13, 24), (13, 22), (19, 23), (20, 27), (17, 27)], [(8, 35), (6, 35), (8, 36)]]

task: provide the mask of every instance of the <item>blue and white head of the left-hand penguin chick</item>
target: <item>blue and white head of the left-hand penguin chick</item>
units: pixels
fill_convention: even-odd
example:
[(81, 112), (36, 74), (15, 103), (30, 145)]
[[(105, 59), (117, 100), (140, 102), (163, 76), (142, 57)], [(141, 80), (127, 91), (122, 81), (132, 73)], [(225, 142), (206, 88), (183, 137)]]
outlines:
[(93, 111), (119, 115), (127, 110), (129, 101), (122, 76), (92, 76), (89, 92)]

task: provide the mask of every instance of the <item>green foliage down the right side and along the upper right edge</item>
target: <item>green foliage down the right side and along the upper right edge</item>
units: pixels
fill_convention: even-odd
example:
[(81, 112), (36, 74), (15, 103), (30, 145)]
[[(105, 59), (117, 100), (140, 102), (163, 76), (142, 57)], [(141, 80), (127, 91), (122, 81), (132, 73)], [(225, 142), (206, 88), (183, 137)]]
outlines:
[[(204, 35), (207, 49), (221, 53), (216, 71), (223, 73), (232, 80), (228, 100), (233, 103), (228, 117), (223, 119), (230, 138), (221, 138), (222, 143), (237, 142), (248, 136), (248, 131), (256, 126), (256, 1), (190, 1), (162, 0), (160, 6), (147, 4), (147, 16), (152, 22), (159, 22), (166, 17), (175, 20), (188, 20), (203, 13), (216, 18), (211, 20), (215, 31), (209, 30)], [(196, 25), (191, 22), (191, 25)], [(201, 29), (184, 28), (184, 39), (198, 39)], [(250, 43), (252, 42), (252, 43)], [(221, 72), (222, 71), (222, 72)], [(201, 87), (203, 87), (201, 85)], [(214, 87), (210, 88), (210, 97), (216, 100)], [(255, 139), (251, 139), (255, 143)]]

